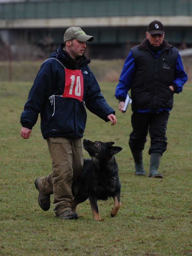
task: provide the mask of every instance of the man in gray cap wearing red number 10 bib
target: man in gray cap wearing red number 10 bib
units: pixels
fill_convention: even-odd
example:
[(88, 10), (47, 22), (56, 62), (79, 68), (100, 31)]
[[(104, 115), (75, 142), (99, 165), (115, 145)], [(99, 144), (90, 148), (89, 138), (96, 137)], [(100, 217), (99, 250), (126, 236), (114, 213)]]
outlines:
[(20, 135), (28, 139), (32, 127), (41, 115), (41, 132), (52, 158), (52, 172), (35, 180), (38, 203), (47, 211), (50, 195), (54, 194), (55, 216), (77, 219), (71, 210), (72, 180), (83, 169), (82, 137), (88, 108), (104, 121), (116, 124), (115, 111), (100, 92), (84, 56), (86, 41), (93, 41), (79, 27), (68, 28), (64, 44), (42, 64), (29, 92), (20, 122)]

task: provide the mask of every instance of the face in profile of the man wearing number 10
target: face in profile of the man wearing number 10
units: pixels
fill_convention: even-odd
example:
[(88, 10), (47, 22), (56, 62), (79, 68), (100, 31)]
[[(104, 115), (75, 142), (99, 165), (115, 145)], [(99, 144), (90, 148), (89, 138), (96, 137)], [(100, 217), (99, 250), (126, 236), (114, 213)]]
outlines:
[(73, 58), (81, 57), (84, 53), (84, 49), (86, 48), (85, 42), (80, 42), (76, 39), (68, 41), (70, 47), (68, 47), (68, 53)]

